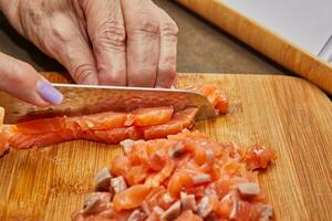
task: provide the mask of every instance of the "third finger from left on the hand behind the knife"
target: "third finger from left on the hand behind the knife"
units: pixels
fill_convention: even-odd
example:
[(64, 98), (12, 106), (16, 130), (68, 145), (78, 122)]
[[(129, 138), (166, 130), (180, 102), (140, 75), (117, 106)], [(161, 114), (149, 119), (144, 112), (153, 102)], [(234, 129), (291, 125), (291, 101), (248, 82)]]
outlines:
[(159, 57), (159, 21), (151, 0), (122, 0), (129, 86), (153, 87)]

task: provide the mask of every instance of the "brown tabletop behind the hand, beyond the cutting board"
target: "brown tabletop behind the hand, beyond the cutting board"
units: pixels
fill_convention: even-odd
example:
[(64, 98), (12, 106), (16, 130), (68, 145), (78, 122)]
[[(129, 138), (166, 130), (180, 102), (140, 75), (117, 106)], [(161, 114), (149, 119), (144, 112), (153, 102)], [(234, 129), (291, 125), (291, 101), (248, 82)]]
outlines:
[[(227, 33), (170, 0), (155, 0), (179, 27), (178, 72), (287, 73)], [(0, 14), (0, 51), (32, 64), (38, 71), (64, 71), (21, 38)]]

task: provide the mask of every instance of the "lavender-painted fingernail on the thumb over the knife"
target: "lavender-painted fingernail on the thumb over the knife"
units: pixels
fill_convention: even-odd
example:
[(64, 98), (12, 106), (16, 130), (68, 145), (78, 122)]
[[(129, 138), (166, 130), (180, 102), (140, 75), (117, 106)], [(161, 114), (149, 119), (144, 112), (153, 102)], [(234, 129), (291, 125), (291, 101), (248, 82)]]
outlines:
[(38, 82), (37, 91), (45, 102), (53, 105), (60, 105), (63, 99), (63, 95), (45, 81), (41, 80)]

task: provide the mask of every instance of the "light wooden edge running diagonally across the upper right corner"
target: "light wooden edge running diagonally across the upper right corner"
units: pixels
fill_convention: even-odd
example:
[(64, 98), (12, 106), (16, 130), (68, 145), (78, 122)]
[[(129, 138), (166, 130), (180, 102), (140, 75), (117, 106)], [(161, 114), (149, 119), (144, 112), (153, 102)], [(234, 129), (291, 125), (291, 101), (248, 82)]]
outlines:
[(332, 94), (332, 65), (245, 17), (221, 0), (176, 0), (255, 50)]

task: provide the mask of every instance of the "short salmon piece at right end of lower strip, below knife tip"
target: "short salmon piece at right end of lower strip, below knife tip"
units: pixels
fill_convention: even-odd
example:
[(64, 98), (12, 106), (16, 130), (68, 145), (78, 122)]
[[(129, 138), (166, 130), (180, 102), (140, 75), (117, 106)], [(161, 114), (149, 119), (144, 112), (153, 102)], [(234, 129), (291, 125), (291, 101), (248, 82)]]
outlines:
[(195, 123), (198, 108), (187, 108), (174, 114), (174, 117), (163, 125), (143, 127), (145, 139), (156, 139), (180, 133), (185, 128), (190, 128)]

